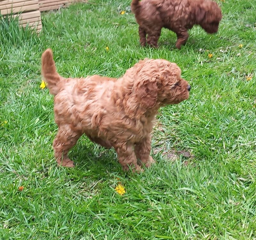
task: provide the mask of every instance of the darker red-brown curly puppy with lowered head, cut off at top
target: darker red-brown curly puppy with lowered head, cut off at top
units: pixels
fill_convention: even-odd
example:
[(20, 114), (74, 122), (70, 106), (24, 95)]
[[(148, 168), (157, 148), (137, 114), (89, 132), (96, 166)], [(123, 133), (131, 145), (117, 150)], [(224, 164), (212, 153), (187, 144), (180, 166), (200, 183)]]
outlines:
[(140, 45), (157, 47), (162, 27), (176, 33), (176, 47), (188, 40), (188, 29), (200, 25), (216, 33), (222, 18), (220, 7), (209, 0), (132, 0), (132, 12), (139, 24)]

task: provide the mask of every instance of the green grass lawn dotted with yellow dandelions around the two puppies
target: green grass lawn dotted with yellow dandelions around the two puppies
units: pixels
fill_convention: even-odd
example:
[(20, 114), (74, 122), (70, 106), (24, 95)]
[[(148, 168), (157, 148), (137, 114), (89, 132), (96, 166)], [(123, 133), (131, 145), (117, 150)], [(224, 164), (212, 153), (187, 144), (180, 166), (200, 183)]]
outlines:
[[(1, 18), (0, 239), (256, 239), (256, 2), (219, 1), (218, 34), (194, 27), (181, 50), (168, 30), (141, 48), (129, 1), (90, 2), (44, 13), (39, 36)], [(85, 136), (76, 167), (56, 166), (53, 98), (39, 88), (48, 47), (64, 76), (118, 77), (145, 57), (180, 66), (190, 98), (159, 110), (154, 166), (125, 174)]]

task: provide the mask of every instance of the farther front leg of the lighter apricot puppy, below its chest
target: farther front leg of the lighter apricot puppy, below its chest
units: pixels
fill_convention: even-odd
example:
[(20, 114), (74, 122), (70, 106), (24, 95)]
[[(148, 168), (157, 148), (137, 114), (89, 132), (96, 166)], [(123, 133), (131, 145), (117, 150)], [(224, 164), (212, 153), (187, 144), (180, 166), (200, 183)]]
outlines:
[(155, 160), (149, 155), (151, 150), (151, 134), (148, 134), (141, 142), (136, 143), (134, 151), (136, 157), (145, 167), (150, 167), (151, 164), (155, 163)]

